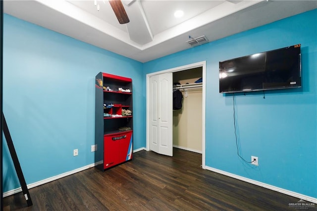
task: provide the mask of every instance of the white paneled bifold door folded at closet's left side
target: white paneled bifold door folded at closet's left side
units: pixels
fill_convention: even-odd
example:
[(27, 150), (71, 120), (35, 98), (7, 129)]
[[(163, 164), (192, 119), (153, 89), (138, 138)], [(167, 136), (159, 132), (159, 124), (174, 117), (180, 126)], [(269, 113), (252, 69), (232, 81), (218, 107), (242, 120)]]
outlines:
[(173, 74), (150, 77), (150, 150), (173, 156)]

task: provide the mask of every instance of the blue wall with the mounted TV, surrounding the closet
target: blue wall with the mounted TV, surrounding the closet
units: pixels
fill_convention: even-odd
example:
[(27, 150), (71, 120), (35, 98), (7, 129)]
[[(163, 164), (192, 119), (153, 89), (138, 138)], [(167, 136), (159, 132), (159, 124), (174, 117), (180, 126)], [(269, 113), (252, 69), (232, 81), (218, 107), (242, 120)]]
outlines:
[[(317, 10), (292, 16), (144, 64), (144, 73), (207, 61), (206, 165), (317, 198)], [(218, 62), (302, 45), (302, 88), (236, 96), (219, 94)], [(144, 76), (145, 79), (145, 76)]]

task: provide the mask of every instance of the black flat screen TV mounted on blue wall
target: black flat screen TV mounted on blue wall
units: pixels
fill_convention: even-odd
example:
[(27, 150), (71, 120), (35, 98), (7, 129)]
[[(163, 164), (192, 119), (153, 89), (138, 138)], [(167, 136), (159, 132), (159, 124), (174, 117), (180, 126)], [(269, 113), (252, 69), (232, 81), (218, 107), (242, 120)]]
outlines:
[(219, 62), (219, 93), (299, 88), (301, 45)]

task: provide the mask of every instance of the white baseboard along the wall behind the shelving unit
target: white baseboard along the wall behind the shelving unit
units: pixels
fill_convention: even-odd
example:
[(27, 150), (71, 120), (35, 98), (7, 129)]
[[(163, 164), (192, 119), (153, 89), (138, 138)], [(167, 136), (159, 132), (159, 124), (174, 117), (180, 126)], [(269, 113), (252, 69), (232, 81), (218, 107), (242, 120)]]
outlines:
[[(141, 150), (146, 150), (145, 147), (142, 147), (142, 148), (139, 148), (139, 149), (136, 149), (134, 150), (133, 152), (136, 153), (136, 152), (139, 152)], [(74, 169), (74, 170), (71, 170), (71, 171), (68, 171), (68, 172), (65, 172), (65, 173), (62, 173), (62, 174), (58, 174), (56, 176), (53, 176), (53, 177), (50, 177), (50, 178), (47, 178), (47, 179), (44, 179), (44, 180), (41, 180), (41, 181), (38, 181), (38, 182), (34, 182), (34, 183), (31, 183), (31, 184), (28, 184), (27, 187), (28, 189), (30, 188), (34, 188), (36, 186), (39, 186), (39, 185), (43, 185), (45, 183), (48, 183), (48, 182), (52, 182), (56, 179), (60, 179), (62, 177), (65, 177), (65, 176), (68, 176), (68, 175), (71, 175), (71, 174), (74, 174), (74, 173), (77, 173), (77, 172), (80, 172), (80, 171), (83, 171), (83, 170), (86, 170), (88, 168), (91, 168), (91, 167), (94, 167), (95, 165), (99, 165), (103, 163), (103, 161), (98, 161), (96, 163), (92, 163), (92, 164), (89, 164), (89, 165), (86, 165), (86, 166), (83, 166), (83, 167), (80, 167), (80, 168), (77, 168), (77, 169)], [(16, 193), (19, 193), (22, 191), (22, 188), (16, 188), (16, 189), (13, 189), (13, 190), (10, 190), (10, 191), (7, 191), (7, 192), (4, 192), (3, 193), (3, 197), (7, 197), (7, 196), (10, 196), (10, 195), (13, 195), (13, 194), (16, 194)]]

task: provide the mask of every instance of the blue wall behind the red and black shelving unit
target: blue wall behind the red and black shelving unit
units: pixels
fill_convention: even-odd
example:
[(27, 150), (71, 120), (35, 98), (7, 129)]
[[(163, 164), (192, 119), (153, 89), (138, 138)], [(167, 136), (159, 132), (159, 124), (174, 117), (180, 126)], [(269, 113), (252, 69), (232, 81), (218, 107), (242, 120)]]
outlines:
[[(3, 112), (27, 184), (94, 163), (98, 72), (132, 78), (134, 149), (145, 146), (141, 62), (9, 15), (3, 32)], [(6, 192), (20, 185), (3, 145)]]

